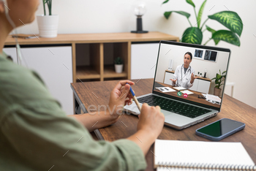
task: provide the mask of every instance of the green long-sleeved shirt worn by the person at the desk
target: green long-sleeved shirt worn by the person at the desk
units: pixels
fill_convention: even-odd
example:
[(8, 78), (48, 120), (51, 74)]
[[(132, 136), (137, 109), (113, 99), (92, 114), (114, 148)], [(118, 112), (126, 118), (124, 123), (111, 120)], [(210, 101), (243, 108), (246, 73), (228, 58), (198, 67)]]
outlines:
[(135, 142), (95, 141), (42, 79), (0, 54), (0, 170), (144, 170)]

